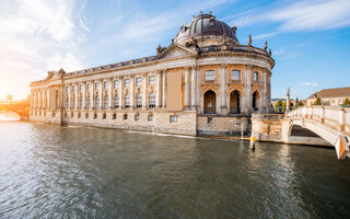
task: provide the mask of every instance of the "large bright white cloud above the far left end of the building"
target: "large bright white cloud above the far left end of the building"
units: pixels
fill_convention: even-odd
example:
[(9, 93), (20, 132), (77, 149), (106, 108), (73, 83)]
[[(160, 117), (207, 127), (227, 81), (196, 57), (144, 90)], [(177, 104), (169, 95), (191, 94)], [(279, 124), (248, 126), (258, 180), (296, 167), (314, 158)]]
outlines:
[[(60, 67), (84, 65), (74, 56), (89, 30), (71, 0), (12, 0), (0, 2), (0, 87), (25, 96), (30, 81)], [(78, 13), (77, 13), (78, 11)], [(24, 81), (25, 80), (25, 81)], [(19, 87), (19, 84), (22, 84)], [(19, 88), (13, 90), (14, 88)], [(0, 93), (4, 95), (4, 93)], [(1, 99), (1, 96), (0, 96)]]

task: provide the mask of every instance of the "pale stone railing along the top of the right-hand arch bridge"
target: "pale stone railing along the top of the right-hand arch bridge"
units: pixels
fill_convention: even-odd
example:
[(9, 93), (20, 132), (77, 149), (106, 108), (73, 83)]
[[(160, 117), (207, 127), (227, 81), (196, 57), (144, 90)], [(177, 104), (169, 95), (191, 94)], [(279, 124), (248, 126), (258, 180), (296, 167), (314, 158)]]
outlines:
[(350, 108), (334, 106), (303, 106), (295, 108), (287, 117), (306, 117), (327, 123), (340, 130), (350, 131)]

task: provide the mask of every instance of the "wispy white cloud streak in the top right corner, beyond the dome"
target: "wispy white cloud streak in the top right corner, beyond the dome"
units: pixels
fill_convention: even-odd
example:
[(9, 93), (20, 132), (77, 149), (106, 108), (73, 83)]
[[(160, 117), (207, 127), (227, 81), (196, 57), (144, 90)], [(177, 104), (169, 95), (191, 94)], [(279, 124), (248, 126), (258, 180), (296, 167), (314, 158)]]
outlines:
[(349, 0), (300, 1), (288, 7), (256, 11), (238, 16), (237, 25), (247, 26), (260, 22), (280, 23), (278, 31), (330, 30), (350, 25)]

